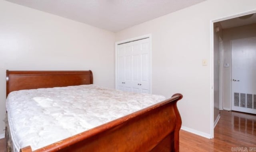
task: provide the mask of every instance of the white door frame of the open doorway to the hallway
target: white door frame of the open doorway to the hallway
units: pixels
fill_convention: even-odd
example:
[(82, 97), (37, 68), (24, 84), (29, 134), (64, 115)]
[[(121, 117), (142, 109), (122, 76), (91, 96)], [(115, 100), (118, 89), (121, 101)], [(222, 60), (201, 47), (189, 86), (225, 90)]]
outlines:
[[(238, 14), (225, 16), (222, 18), (212, 19), (210, 20), (210, 84), (211, 84), (211, 90), (210, 90), (210, 138), (214, 138), (214, 23), (218, 21), (223, 21), (226, 19), (232, 19), (237, 18), (240, 16), (245, 16), (248, 14), (256, 13), (256, 10), (250, 10), (246, 12), (241, 12)], [(221, 65), (223, 66), (223, 65)], [(232, 66), (232, 65), (231, 65)], [(231, 80), (231, 78), (230, 78)], [(231, 85), (231, 84), (230, 84)], [(231, 86), (230, 86), (231, 88)], [(230, 99), (231, 99), (231, 92), (230, 92)], [(231, 104), (231, 101), (230, 101)]]

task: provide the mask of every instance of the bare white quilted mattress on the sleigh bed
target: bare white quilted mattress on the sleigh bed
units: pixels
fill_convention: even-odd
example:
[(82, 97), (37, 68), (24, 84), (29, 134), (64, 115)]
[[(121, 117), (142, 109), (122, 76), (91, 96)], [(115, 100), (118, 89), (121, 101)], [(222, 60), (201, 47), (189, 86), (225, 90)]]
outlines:
[(14, 148), (36, 150), (164, 99), (81, 85), (14, 91), (6, 109)]

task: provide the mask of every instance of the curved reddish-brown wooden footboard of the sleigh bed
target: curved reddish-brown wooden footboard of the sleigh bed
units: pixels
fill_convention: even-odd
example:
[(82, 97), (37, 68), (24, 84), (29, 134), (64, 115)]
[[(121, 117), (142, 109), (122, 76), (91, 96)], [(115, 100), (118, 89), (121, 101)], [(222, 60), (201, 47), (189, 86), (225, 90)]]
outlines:
[[(34, 152), (178, 152), (181, 94)], [(20, 152), (31, 152), (30, 146)]]

